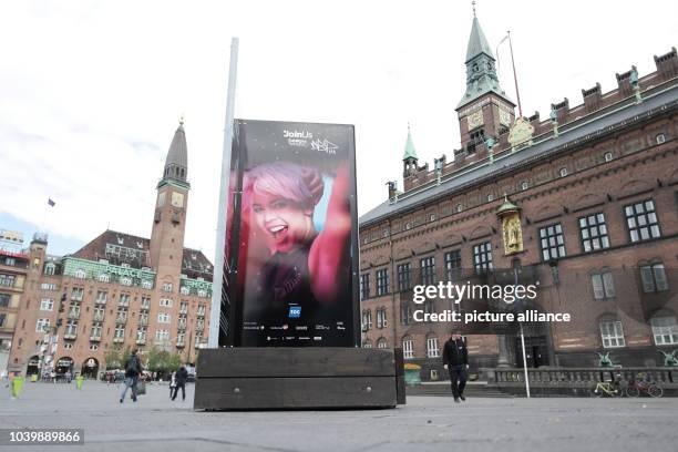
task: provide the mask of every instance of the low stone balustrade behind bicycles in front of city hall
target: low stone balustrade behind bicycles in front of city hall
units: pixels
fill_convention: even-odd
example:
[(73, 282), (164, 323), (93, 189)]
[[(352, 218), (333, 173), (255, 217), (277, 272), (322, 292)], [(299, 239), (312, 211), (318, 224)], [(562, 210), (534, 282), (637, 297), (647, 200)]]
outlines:
[[(483, 369), (485, 378), (497, 386), (523, 384), (523, 369)], [(549, 387), (589, 387), (599, 381), (610, 381), (620, 376), (624, 381), (631, 381), (645, 376), (646, 379), (662, 384), (678, 386), (678, 368), (537, 368), (527, 369), (530, 384)]]

